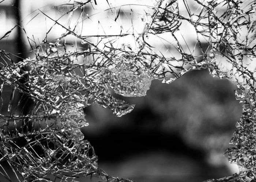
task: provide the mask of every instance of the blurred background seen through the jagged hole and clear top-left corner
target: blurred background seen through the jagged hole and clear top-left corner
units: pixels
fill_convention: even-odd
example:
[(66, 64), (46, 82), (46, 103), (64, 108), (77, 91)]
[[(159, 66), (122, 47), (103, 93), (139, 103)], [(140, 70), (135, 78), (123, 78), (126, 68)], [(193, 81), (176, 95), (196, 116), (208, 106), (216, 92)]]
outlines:
[[(0, 37), (26, 15), (50, 3), (2, 1)], [(129, 12), (120, 14), (123, 24), (130, 18), (126, 15)], [(15, 62), (34, 58), (20, 27), (0, 41), (0, 48), (14, 54)], [(128, 98), (112, 91), (116, 98), (136, 104), (134, 110), (118, 118), (98, 105), (84, 108), (90, 123), (82, 128), (84, 139), (94, 146), (99, 167), (114, 177), (138, 182), (198, 182), (232, 175), (238, 171), (237, 165), (223, 154), (241, 116), (234, 89), (229, 80), (199, 70), (170, 84), (153, 80), (144, 97)]]

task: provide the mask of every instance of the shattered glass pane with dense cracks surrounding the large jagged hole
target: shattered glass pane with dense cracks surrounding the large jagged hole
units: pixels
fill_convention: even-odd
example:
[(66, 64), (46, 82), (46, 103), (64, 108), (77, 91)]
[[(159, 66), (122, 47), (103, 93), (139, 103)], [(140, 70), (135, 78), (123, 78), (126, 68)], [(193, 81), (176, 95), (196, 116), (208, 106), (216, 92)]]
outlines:
[(132, 182), (99, 169), (80, 131), (89, 125), (83, 108), (98, 104), (122, 116), (135, 105), (111, 90), (144, 96), (153, 79), (171, 83), (200, 69), (236, 83), (243, 103), (226, 150), (240, 172), (208, 182), (256, 180), (255, 0), (58, 2), (30, 13), (0, 41), (19, 27), (30, 58), (15, 62), (18, 55), (0, 49), (0, 157), (19, 181)]

